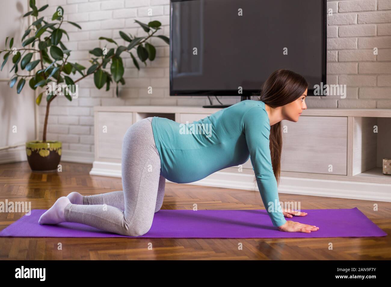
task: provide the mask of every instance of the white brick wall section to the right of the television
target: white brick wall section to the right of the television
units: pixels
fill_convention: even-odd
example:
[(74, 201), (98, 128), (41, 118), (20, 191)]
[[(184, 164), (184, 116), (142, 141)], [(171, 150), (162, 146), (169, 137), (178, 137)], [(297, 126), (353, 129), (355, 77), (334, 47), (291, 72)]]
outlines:
[(308, 98), (308, 107), (391, 108), (391, 0), (327, 1), (327, 8), (327, 82), (346, 84), (348, 93)]

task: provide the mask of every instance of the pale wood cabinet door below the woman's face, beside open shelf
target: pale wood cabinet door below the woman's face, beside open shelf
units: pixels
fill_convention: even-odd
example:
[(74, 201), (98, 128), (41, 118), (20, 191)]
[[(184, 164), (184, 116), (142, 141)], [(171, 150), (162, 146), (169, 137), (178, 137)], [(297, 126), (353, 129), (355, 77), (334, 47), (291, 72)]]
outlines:
[(282, 124), (282, 171), (347, 175), (347, 117), (300, 116)]

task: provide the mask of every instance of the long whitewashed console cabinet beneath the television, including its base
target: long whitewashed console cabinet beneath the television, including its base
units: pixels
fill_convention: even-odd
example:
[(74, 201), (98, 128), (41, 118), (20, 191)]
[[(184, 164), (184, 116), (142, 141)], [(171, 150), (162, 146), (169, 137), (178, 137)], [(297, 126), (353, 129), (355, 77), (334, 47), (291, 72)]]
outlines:
[[(122, 139), (140, 119), (159, 116), (192, 123), (219, 110), (96, 106), (90, 174), (121, 177)], [(382, 174), (382, 159), (391, 158), (391, 109), (307, 109), (298, 122), (282, 123), (280, 193), (391, 201), (391, 176)], [(253, 179), (248, 160), (190, 184), (258, 191)]]

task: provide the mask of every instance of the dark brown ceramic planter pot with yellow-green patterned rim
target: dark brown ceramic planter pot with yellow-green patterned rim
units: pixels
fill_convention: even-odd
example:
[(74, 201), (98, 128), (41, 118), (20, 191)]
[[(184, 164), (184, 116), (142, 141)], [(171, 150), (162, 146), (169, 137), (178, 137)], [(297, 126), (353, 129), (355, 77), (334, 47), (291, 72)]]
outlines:
[(30, 141), (26, 143), (27, 160), (32, 171), (57, 171), (61, 158), (61, 141)]

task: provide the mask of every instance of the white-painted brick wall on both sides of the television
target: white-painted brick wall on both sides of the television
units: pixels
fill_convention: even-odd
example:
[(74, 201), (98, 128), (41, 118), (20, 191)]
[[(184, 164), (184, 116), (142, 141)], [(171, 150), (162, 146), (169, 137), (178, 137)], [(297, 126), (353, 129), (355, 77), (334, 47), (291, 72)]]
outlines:
[[(58, 5), (65, 9), (65, 19), (75, 21), (82, 30), (64, 23), (70, 41), (65, 45), (73, 50), (70, 61), (90, 66), (88, 50), (107, 44), (100, 36), (115, 39), (122, 45), (118, 31), (145, 36), (135, 23), (158, 20), (162, 30), (157, 35), (169, 37), (169, 0), (37, 0), (37, 6), (50, 6), (41, 16), (52, 16)], [(148, 16), (147, 9), (152, 9)], [(307, 106), (341, 108), (391, 108), (391, 0), (327, 1), (333, 15), (327, 16), (327, 78), (328, 84), (346, 84), (347, 96), (308, 97)], [(120, 98), (115, 85), (110, 91), (93, 84), (93, 76), (82, 80), (79, 98), (69, 102), (56, 98), (50, 107), (47, 137), (63, 141), (63, 149), (93, 153), (94, 105), (204, 105), (206, 97), (169, 96), (169, 47), (161, 39), (151, 39), (156, 46), (156, 59), (147, 60), (147, 67), (138, 71), (129, 55), (122, 53), (126, 86), (120, 86)], [(109, 45), (108, 45), (109, 46)], [(378, 55), (373, 48), (378, 48)], [(76, 77), (75, 77), (76, 78)], [(153, 94), (147, 93), (152, 86)], [(233, 104), (239, 97), (219, 97)], [(214, 101), (216, 103), (216, 101)], [(45, 115), (45, 99), (39, 107), (41, 127)], [(40, 137), (42, 128), (40, 130)]]

